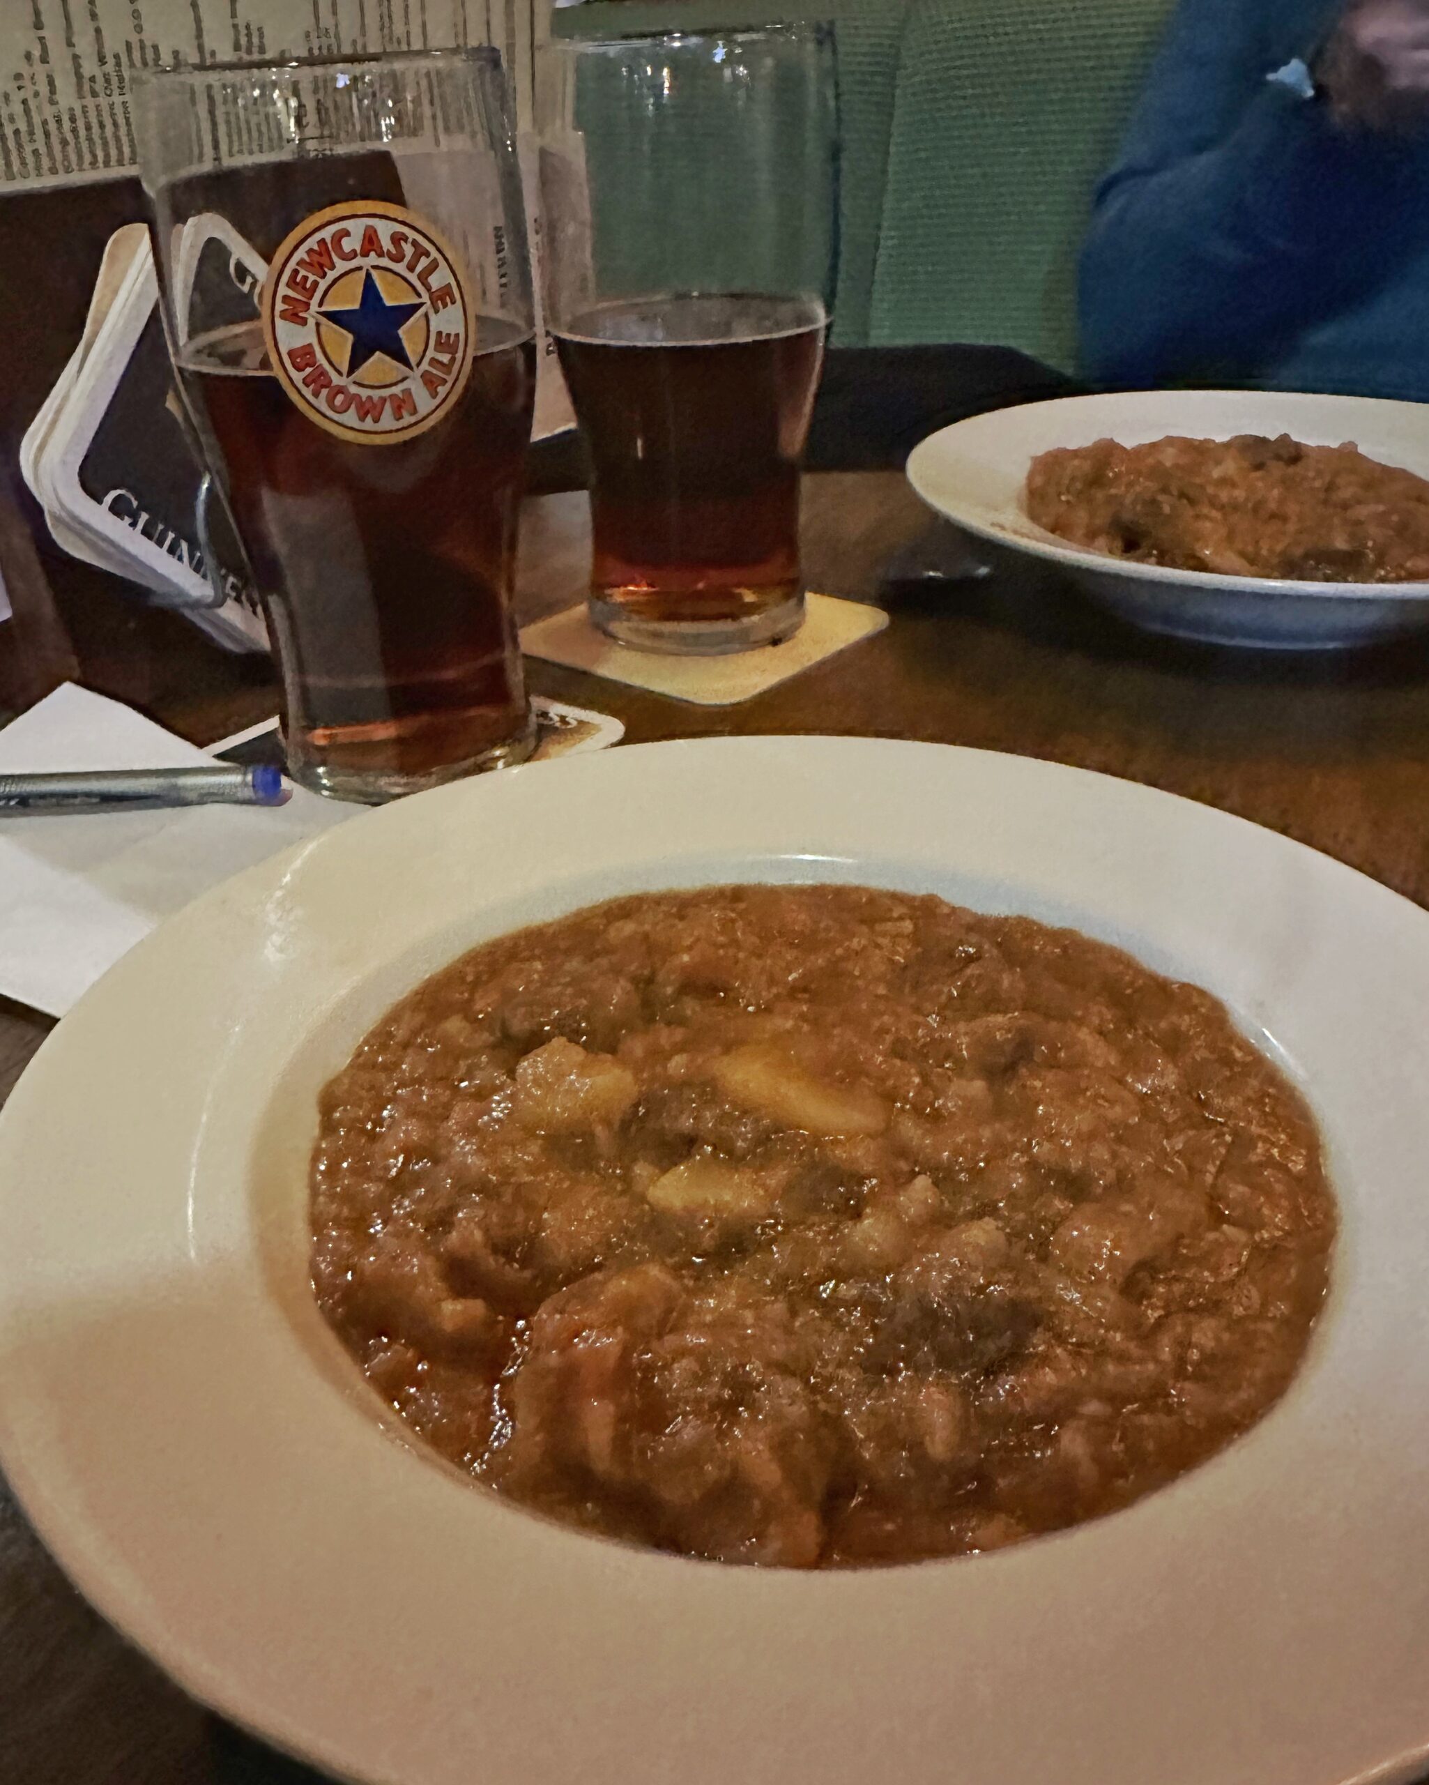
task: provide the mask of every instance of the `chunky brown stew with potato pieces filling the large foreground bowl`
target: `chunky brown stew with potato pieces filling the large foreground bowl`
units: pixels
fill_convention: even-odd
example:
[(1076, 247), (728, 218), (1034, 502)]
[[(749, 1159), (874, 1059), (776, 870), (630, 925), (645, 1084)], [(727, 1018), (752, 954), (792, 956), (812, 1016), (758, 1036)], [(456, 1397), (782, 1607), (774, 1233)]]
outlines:
[(319, 1307), (435, 1449), (585, 1530), (908, 1562), (1160, 1487), (1284, 1391), (1334, 1207), (1194, 985), (865, 887), (473, 950), (323, 1094)]

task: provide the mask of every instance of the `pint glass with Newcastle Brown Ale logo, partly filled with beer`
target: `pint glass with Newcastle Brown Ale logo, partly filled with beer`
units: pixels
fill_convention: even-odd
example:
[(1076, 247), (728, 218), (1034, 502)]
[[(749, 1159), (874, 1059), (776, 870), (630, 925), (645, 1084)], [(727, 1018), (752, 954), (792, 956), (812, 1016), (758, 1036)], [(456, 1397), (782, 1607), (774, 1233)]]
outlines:
[(291, 773), (378, 801), (519, 760), (535, 346), (500, 57), (175, 68), (136, 105), (169, 348)]

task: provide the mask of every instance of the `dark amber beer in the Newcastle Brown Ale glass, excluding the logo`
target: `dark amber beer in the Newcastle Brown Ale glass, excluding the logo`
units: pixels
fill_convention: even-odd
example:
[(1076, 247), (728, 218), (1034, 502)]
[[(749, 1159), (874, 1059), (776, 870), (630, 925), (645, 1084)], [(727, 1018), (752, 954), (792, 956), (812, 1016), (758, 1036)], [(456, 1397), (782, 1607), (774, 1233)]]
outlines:
[(535, 348), (498, 327), (451, 411), (382, 446), (301, 414), (257, 323), (180, 359), (291, 666), (289, 762), (335, 793), (421, 782), (526, 725), (510, 589)]

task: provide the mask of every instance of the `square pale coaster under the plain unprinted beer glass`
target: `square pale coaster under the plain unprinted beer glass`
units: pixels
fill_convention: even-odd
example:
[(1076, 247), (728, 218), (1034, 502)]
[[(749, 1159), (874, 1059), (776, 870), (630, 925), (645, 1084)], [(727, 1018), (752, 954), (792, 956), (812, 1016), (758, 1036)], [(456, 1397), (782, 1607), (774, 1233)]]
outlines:
[(655, 652), (633, 652), (596, 632), (582, 602), (580, 607), (567, 607), (526, 627), (521, 650), (528, 657), (544, 657), (567, 669), (587, 669), (610, 682), (646, 687), (673, 700), (690, 700), (699, 707), (733, 707), (858, 639), (871, 639), (887, 625), (888, 616), (880, 607), (810, 594), (803, 627), (783, 644), (760, 644), (731, 657), (658, 657)]

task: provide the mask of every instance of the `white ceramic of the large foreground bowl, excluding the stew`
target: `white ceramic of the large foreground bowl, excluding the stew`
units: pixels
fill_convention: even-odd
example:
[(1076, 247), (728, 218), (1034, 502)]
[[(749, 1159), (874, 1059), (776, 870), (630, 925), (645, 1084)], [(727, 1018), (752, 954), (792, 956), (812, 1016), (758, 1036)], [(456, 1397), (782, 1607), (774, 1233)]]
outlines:
[[(1122, 942), (1308, 1091), (1342, 1207), (1290, 1394), (1113, 1517), (797, 1574), (548, 1524), (394, 1432), (307, 1283), (316, 1096), (460, 950), (633, 889), (931, 889)], [(0, 1460), (191, 1692), (380, 1785), (1347, 1785), (1429, 1753), (1429, 916), (1019, 757), (651, 744), (403, 800), (218, 887), (0, 1116)]]

